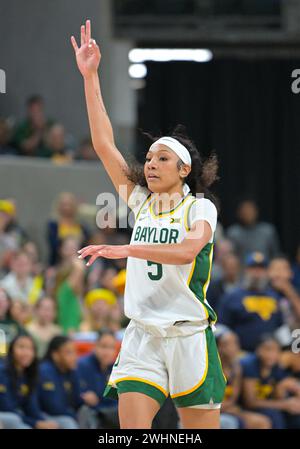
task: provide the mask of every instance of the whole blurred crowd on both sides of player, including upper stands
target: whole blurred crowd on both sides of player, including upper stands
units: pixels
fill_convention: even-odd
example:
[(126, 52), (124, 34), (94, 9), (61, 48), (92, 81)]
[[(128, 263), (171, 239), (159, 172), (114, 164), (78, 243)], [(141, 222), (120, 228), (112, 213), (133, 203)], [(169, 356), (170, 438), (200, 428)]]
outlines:
[[(71, 150), (43, 100), (10, 128), (0, 120), (0, 154), (53, 160), (94, 159), (91, 143)], [(126, 259), (78, 259), (88, 244), (127, 244), (130, 230), (91, 228), (78, 200), (61, 193), (45, 229), (48, 260), (0, 199), (0, 426), (118, 428), (117, 401), (103, 397), (123, 332)], [(236, 222), (218, 224), (207, 300), (227, 378), (223, 428), (300, 428), (300, 245), (295, 260), (275, 227), (244, 199)], [(297, 340), (298, 339), (298, 340)], [(180, 426), (168, 398), (155, 428)]]

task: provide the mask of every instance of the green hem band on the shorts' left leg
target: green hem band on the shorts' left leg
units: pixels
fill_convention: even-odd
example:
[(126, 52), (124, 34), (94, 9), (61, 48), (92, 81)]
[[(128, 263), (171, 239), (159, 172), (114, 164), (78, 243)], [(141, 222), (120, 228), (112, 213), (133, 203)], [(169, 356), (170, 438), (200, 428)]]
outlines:
[(128, 392), (143, 393), (150, 396), (150, 398), (155, 399), (160, 406), (163, 405), (167, 398), (162, 391), (153, 385), (136, 380), (122, 380), (117, 383), (117, 387), (108, 384), (104, 390), (103, 397), (118, 399), (119, 394)]

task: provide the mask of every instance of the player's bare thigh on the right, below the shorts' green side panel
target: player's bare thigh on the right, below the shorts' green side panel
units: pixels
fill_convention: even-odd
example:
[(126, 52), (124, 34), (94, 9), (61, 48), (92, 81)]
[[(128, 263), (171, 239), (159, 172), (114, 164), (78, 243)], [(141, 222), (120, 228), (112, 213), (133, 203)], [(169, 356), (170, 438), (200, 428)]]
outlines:
[(184, 429), (220, 429), (220, 409), (177, 408)]

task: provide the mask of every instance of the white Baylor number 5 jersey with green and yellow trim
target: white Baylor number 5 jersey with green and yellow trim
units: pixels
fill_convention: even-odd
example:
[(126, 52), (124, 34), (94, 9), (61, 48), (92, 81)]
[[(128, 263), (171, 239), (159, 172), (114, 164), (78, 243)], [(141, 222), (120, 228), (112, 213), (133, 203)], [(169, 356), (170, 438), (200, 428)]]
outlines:
[(194, 261), (185, 265), (128, 257), (125, 315), (145, 325), (162, 328), (182, 321), (216, 321), (216, 314), (206, 301), (217, 224), (214, 204), (188, 193), (172, 210), (156, 214), (153, 200), (150, 190), (139, 185), (129, 197), (128, 205), (135, 215), (131, 245), (180, 243), (196, 220), (206, 220), (210, 224), (212, 238)]

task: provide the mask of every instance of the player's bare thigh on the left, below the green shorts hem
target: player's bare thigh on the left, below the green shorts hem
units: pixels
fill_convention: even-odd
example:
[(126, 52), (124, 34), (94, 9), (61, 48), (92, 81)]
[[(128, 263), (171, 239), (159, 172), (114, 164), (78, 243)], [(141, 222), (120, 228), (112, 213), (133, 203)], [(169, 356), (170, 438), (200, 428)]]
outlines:
[(121, 429), (151, 429), (153, 418), (160, 409), (158, 402), (143, 393), (119, 395)]

